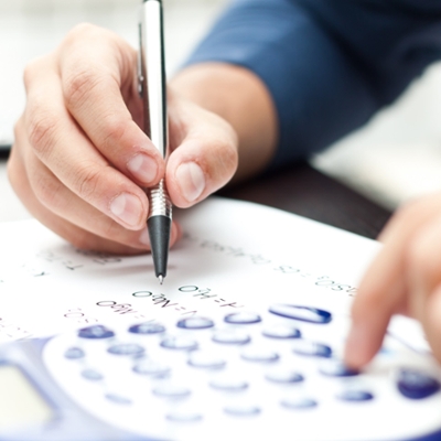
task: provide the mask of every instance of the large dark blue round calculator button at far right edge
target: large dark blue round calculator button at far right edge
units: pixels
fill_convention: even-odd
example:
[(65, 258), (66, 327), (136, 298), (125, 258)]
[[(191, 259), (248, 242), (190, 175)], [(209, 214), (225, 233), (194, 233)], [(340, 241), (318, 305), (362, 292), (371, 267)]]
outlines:
[(401, 369), (397, 380), (398, 390), (407, 398), (421, 399), (440, 390), (440, 383), (417, 369)]

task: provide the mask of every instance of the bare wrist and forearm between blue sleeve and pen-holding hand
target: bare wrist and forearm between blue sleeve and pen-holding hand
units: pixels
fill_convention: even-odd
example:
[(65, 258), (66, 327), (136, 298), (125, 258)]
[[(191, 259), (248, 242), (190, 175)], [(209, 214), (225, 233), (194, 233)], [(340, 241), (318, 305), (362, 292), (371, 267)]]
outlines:
[(276, 109), (255, 74), (226, 63), (202, 63), (178, 73), (170, 86), (225, 119), (236, 131), (239, 165), (234, 181), (247, 179), (268, 165), (278, 141)]

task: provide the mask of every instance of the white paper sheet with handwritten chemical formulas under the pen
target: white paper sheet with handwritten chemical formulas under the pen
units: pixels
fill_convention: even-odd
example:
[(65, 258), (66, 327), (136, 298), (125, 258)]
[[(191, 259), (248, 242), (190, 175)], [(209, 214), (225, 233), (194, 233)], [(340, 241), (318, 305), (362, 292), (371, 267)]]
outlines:
[(0, 342), (291, 298), (347, 315), (379, 249), (313, 220), (218, 197), (175, 217), (184, 238), (162, 286), (150, 255), (82, 251), (36, 220), (0, 224)]

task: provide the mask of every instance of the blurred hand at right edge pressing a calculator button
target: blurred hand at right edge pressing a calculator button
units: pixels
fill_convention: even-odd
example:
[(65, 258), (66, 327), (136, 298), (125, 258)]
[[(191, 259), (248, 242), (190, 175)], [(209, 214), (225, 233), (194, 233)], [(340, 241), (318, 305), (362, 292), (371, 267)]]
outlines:
[(345, 362), (359, 368), (381, 346), (392, 314), (420, 321), (441, 363), (441, 193), (400, 208), (379, 239), (384, 247), (352, 308)]

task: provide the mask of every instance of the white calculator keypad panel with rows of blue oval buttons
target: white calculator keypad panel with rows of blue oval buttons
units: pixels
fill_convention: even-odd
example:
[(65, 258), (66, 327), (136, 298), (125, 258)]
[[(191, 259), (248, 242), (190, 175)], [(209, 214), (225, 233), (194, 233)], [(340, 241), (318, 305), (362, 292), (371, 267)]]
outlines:
[[(118, 330), (94, 325), (54, 337), (44, 357), (60, 385), (92, 413), (159, 439), (217, 439), (235, 429), (266, 439), (269, 427), (295, 421), (299, 433), (327, 440), (334, 438), (321, 419), (332, 416), (337, 428), (351, 415), (355, 430), (390, 406), (415, 412), (412, 404), (440, 399), (434, 373), (399, 365), (416, 357), (397, 342), (388, 342), (377, 369), (344, 366), (347, 326), (347, 318), (324, 310), (273, 304), (259, 313)], [(117, 415), (122, 417), (109, 417)], [(335, 439), (358, 437), (338, 430)]]

